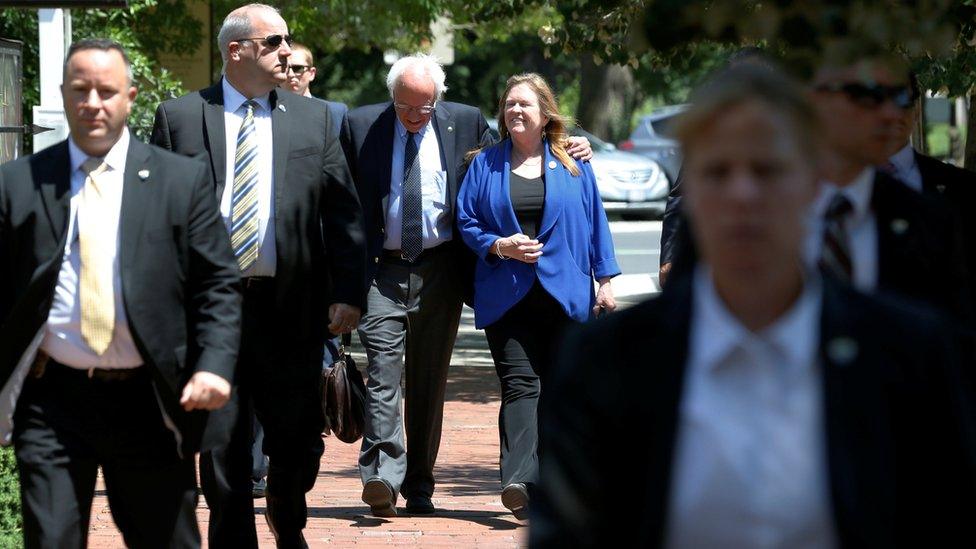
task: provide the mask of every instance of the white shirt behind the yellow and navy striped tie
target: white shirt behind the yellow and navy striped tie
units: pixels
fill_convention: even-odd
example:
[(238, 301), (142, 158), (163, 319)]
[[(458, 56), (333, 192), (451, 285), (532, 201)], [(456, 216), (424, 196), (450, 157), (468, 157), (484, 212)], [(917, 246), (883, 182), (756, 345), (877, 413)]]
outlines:
[[(231, 228), (231, 202), (234, 197), (234, 156), (237, 154), (237, 134), (244, 122), (246, 109), (241, 105), (247, 101), (241, 92), (237, 91), (224, 78), (221, 81), (224, 88), (224, 138), (227, 151), (226, 179), (224, 179), (224, 194), (220, 197), (220, 215), (224, 218), (227, 232)], [(258, 107), (254, 109), (254, 138), (257, 140), (257, 158), (255, 165), (258, 172), (258, 258), (254, 261), (244, 276), (274, 276), (277, 266), (275, 256), (275, 227), (274, 227), (274, 156), (272, 154), (273, 137), (271, 133), (271, 103), (268, 94), (255, 97)]]

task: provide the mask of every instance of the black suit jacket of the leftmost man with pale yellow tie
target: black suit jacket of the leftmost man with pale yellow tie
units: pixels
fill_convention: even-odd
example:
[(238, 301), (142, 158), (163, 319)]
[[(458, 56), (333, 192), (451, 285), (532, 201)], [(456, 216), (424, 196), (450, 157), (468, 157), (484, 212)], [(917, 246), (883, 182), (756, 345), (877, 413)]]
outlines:
[[(64, 256), (70, 177), (67, 141), (0, 166), (4, 382), (47, 321)], [(193, 452), (208, 414), (184, 412), (179, 397), (195, 372), (234, 377), (241, 324), (237, 263), (202, 163), (132, 137), (123, 177), (118, 261), (125, 313), (183, 449)], [(222, 409), (214, 419), (233, 412)], [(220, 444), (228, 427), (214, 422), (204, 446)]]

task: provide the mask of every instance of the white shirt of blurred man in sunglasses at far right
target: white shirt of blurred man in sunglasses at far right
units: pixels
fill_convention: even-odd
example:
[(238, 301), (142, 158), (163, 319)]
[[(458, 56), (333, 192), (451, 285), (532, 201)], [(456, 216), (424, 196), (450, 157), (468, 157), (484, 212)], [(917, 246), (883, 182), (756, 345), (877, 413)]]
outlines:
[(874, 192), (874, 168), (865, 168), (850, 185), (838, 187), (829, 181), (820, 183), (820, 192), (813, 201), (808, 219), (807, 260), (816, 265), (823, 252), (824, 215), (834, 195), (843, 193), (851, 202), (853, 210), (847, 215), (844, 227), (847, 229), (848, 243), (853, 268), (854, 287), (870, 292), (878, 286), (878, 223), (871, 209), (871, 194)]

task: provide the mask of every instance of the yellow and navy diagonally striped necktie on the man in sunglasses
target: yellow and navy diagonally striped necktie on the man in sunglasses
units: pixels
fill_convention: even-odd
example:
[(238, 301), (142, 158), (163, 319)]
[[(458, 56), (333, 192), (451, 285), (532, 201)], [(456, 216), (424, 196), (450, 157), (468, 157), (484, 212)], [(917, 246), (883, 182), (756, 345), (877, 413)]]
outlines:
[(254, 129), (254, 101), (245, 102), (247, 108), (241, 129), (237, 132), (237, 153), (234, 155), (234, 190), (231, 194), (230, 241), (241, 272), (258, 258), (258, 166), (257, 135)]

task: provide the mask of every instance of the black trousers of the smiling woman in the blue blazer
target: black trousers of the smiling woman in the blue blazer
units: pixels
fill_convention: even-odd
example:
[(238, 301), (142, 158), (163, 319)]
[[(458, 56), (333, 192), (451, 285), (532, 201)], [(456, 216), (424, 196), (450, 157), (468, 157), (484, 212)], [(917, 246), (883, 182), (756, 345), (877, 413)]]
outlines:
[(555, 346), (573, 320), (536, 281), (502, 318), (485, 327), (488, 348), (502, 386), (498, 413), (502, 486), (539, 476), (537, 409)]

